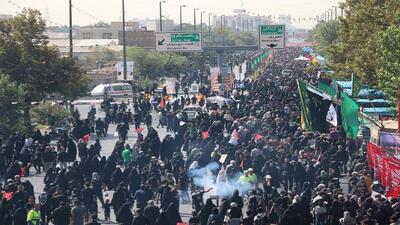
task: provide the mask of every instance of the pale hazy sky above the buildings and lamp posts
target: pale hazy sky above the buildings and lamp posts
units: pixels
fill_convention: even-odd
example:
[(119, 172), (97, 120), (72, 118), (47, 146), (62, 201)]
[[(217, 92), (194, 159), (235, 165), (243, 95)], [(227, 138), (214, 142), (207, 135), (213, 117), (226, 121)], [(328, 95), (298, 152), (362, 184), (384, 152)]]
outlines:
[[(310, 18), (337, 6), (343, 0), (166, 0), (163, 16), (179, 22), (179, 6), (183, 9), (183, 22), (193, 23), (193, 9), (200, 8), (207, 13), (218, 15), (233, 14), (233, 9), (244, 8), (250, 14), (290, 14), (294, 18)], [(116, 21), (121, 18), (121, 0), (72, 0), (74, 24), (86, 25), (102, 21)], [(125, 0), (126, 18), (158, 18), (158, 0)], [(23, 7), (39, 9), (45, 18), (55, 25), (68, 24), (68, 0), (0, 0), (0, 14), (16, 14)], [(204, 16), (204, 17), (208, 17)], [(204, 18), (203, 17), (203, 18)], [(208, 19), (207, 19), (208, 20)], [(198, 15), (197, 22), (199, 23)], [(310, 28), (314, 22), (294, 23), (298, 27)]]

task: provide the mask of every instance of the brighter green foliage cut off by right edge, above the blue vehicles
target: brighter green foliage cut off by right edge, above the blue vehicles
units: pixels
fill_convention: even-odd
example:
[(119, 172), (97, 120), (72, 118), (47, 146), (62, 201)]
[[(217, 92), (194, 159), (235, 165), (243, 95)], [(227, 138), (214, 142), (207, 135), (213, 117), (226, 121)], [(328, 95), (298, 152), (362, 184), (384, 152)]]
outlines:
[(392, 103), (400, 97), (400, 28), (391, 26), (379, 34), (378, 86)]

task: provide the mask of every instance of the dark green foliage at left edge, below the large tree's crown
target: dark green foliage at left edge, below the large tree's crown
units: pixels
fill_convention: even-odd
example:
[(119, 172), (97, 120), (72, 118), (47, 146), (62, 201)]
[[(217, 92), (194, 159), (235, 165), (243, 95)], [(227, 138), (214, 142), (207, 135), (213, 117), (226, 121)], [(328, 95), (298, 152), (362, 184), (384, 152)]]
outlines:
[(22, 88), (4, 74), (0, 74), (0, 130), (6, 136), (15, 131), (24, 131), (21, 120)]

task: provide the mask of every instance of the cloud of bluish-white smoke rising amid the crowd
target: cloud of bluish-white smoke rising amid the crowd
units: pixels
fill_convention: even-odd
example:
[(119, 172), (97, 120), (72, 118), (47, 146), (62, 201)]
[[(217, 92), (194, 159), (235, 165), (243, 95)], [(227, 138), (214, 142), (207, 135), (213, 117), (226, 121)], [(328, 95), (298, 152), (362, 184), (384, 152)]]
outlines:
[[(221, 170), (224, 170), (221, 168)], [(253, 186), (250, 183), (239, 183), (241, 173), (235, 174), (233, 177), (218, 177), (214, 174), (220, 171), (220, 165), (216, 162), (211, 162), (207, 166), (199, 168), (198, 166), (190, 166), (188, 176), (192, 182), (205, 190), (213, 188), (209, 193), (211, 196), (218, 196), (220, 198), (228, 198), (233, 195), (235, 190), (239, 190), (241, 195), (247, 194)], [(220, 171), (220, 174), (224, 171)]]

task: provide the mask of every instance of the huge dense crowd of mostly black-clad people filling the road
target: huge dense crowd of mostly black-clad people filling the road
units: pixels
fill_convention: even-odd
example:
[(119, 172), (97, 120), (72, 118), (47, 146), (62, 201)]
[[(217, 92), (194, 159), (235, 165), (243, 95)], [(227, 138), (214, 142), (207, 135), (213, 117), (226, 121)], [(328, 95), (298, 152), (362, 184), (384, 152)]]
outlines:
[[(184, 204), (193, 208), (190, 225), (399, 224), (398, 200), (372, 196), (373, 172), (359, 143), (346, 139), (340, 127), (324, 134), (299, 127), (296, 79), (316, 82), (304, 64), (293, 61), (299, 54), (300, 49), (275, 52), (258, 78), (232, 94), (236, 101), (207, 105), (192, 122), (181, 109), (199, 104), (195, 99), (160, 107), (142, 97), (133, 112), (126, 103), (105, 107), (105, 120), (94, 121), (93, 110), (84, 120), (76, 115), (75, 127), (56, 145), (39, 131), (29, 137), (15, 133), (1, 152), (0, 224), (94, 225), (112, 219), (176, 225)], [(288, 68), (293, 72), (281, 73)], [(162, 139), (148, 121), (152, 110), (170, 117)], [(137, 130), (141, 122), (148, 131)], [(118, 123), (119, 139), (105, 156), (100, 140), (87, 142), (85, 134), (96, 126), (107, 134), (109, 123)], [(131, 123), (135, 129), (129, 131)], [(127, 144), (133, 130), (137, 139)], [(218, 190), (196, 184), (189, 172), (212, 162), (218, 164), (213, 172), (218, 186), (238, 189), (218, 202), (210, 197)], [(43, 190), (29, 182), (30, 167), (31, 173), (45, 173)], [(349, 181), (340, 185), (343, 176)], [(250, 188), (243, 191), (242, 185)]]

